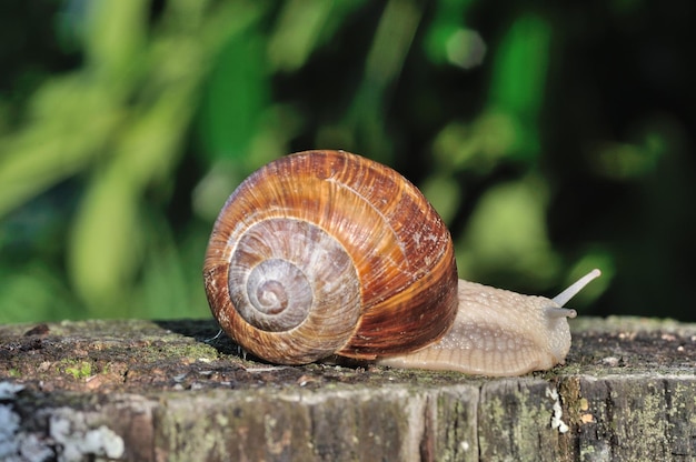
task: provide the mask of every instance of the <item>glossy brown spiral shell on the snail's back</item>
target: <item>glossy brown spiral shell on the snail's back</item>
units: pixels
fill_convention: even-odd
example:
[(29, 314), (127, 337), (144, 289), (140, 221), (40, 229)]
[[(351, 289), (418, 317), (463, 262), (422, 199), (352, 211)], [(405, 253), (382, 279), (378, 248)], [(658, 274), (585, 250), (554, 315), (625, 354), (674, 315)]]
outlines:
[(399, 173), (342, 151), (288, 155), (246, 179), (216, 221), (203, 279), (226, 333), (276, 363), (418, 350), (457, 310), (439, 215)]

